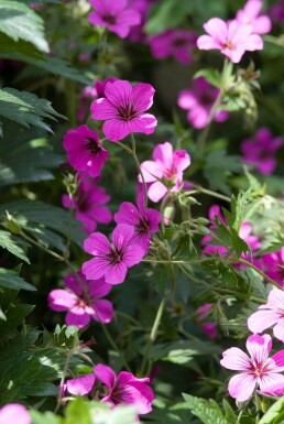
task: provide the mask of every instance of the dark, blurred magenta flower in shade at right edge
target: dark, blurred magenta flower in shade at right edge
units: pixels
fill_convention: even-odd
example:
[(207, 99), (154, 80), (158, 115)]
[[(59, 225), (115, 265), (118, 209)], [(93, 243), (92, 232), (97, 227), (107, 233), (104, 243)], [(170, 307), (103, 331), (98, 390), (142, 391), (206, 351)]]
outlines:
[(241, 143), (243, 162), (251, 163), (261, 174), (272, 174), (276, 167), (276, 151), (283, 145), (281, 137), (273, 137), (267, 128), (261, 128), (253, 139)]

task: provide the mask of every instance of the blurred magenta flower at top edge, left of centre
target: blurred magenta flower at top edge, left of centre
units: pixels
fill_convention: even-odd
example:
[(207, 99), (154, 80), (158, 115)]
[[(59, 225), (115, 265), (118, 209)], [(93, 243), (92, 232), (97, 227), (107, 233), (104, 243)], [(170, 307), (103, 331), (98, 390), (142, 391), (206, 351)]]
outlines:
[(127, 0), (89, 0), (95, 11), (88, 20), (92, 25), (107, 28), (121, 39), (128, 36), (131, 26), (141, 22), (140, 13), (128, 7)]

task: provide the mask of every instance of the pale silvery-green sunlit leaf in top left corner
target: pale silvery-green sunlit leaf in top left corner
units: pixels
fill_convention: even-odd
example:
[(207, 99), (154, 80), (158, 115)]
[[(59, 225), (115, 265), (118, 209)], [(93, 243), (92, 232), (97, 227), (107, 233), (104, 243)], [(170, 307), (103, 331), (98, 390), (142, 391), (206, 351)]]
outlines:
[(0, 31), (14, 41), (24, 40), (42, 52), (50, 52), (44, 37), (44, 23), (28, 4), (19, 1), (1, 0)]

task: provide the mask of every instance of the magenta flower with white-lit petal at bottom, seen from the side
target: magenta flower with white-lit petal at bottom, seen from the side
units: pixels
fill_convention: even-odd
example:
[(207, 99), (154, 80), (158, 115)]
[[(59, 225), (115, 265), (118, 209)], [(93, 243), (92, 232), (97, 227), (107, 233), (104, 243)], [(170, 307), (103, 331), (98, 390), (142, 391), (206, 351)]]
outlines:
[(132, 373), (121, 371), (116, 376), (114, 371), (102, 363), (95, 368), (95, 376), (108, 388), (108, 394), (102, 402), (113, 405), (120, 403), (130, 404), (138, 407), (139, 414), (148, 414), (152, 411), (154, 393), (146, 384), (150, 378), (136, 379)]

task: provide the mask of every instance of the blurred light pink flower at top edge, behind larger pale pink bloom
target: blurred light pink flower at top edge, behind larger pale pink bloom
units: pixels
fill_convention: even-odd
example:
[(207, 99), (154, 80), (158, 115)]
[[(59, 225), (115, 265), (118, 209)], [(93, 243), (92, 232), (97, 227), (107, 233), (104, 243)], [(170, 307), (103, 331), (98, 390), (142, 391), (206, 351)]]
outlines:
[(271, 31), (271, 20), (266, 14), (259, 17), (261, 9), (261, 0), (248, 0), (244, 8), (238, 11), (236, 21), (251, 25), (253, 34), (267, 34)]

